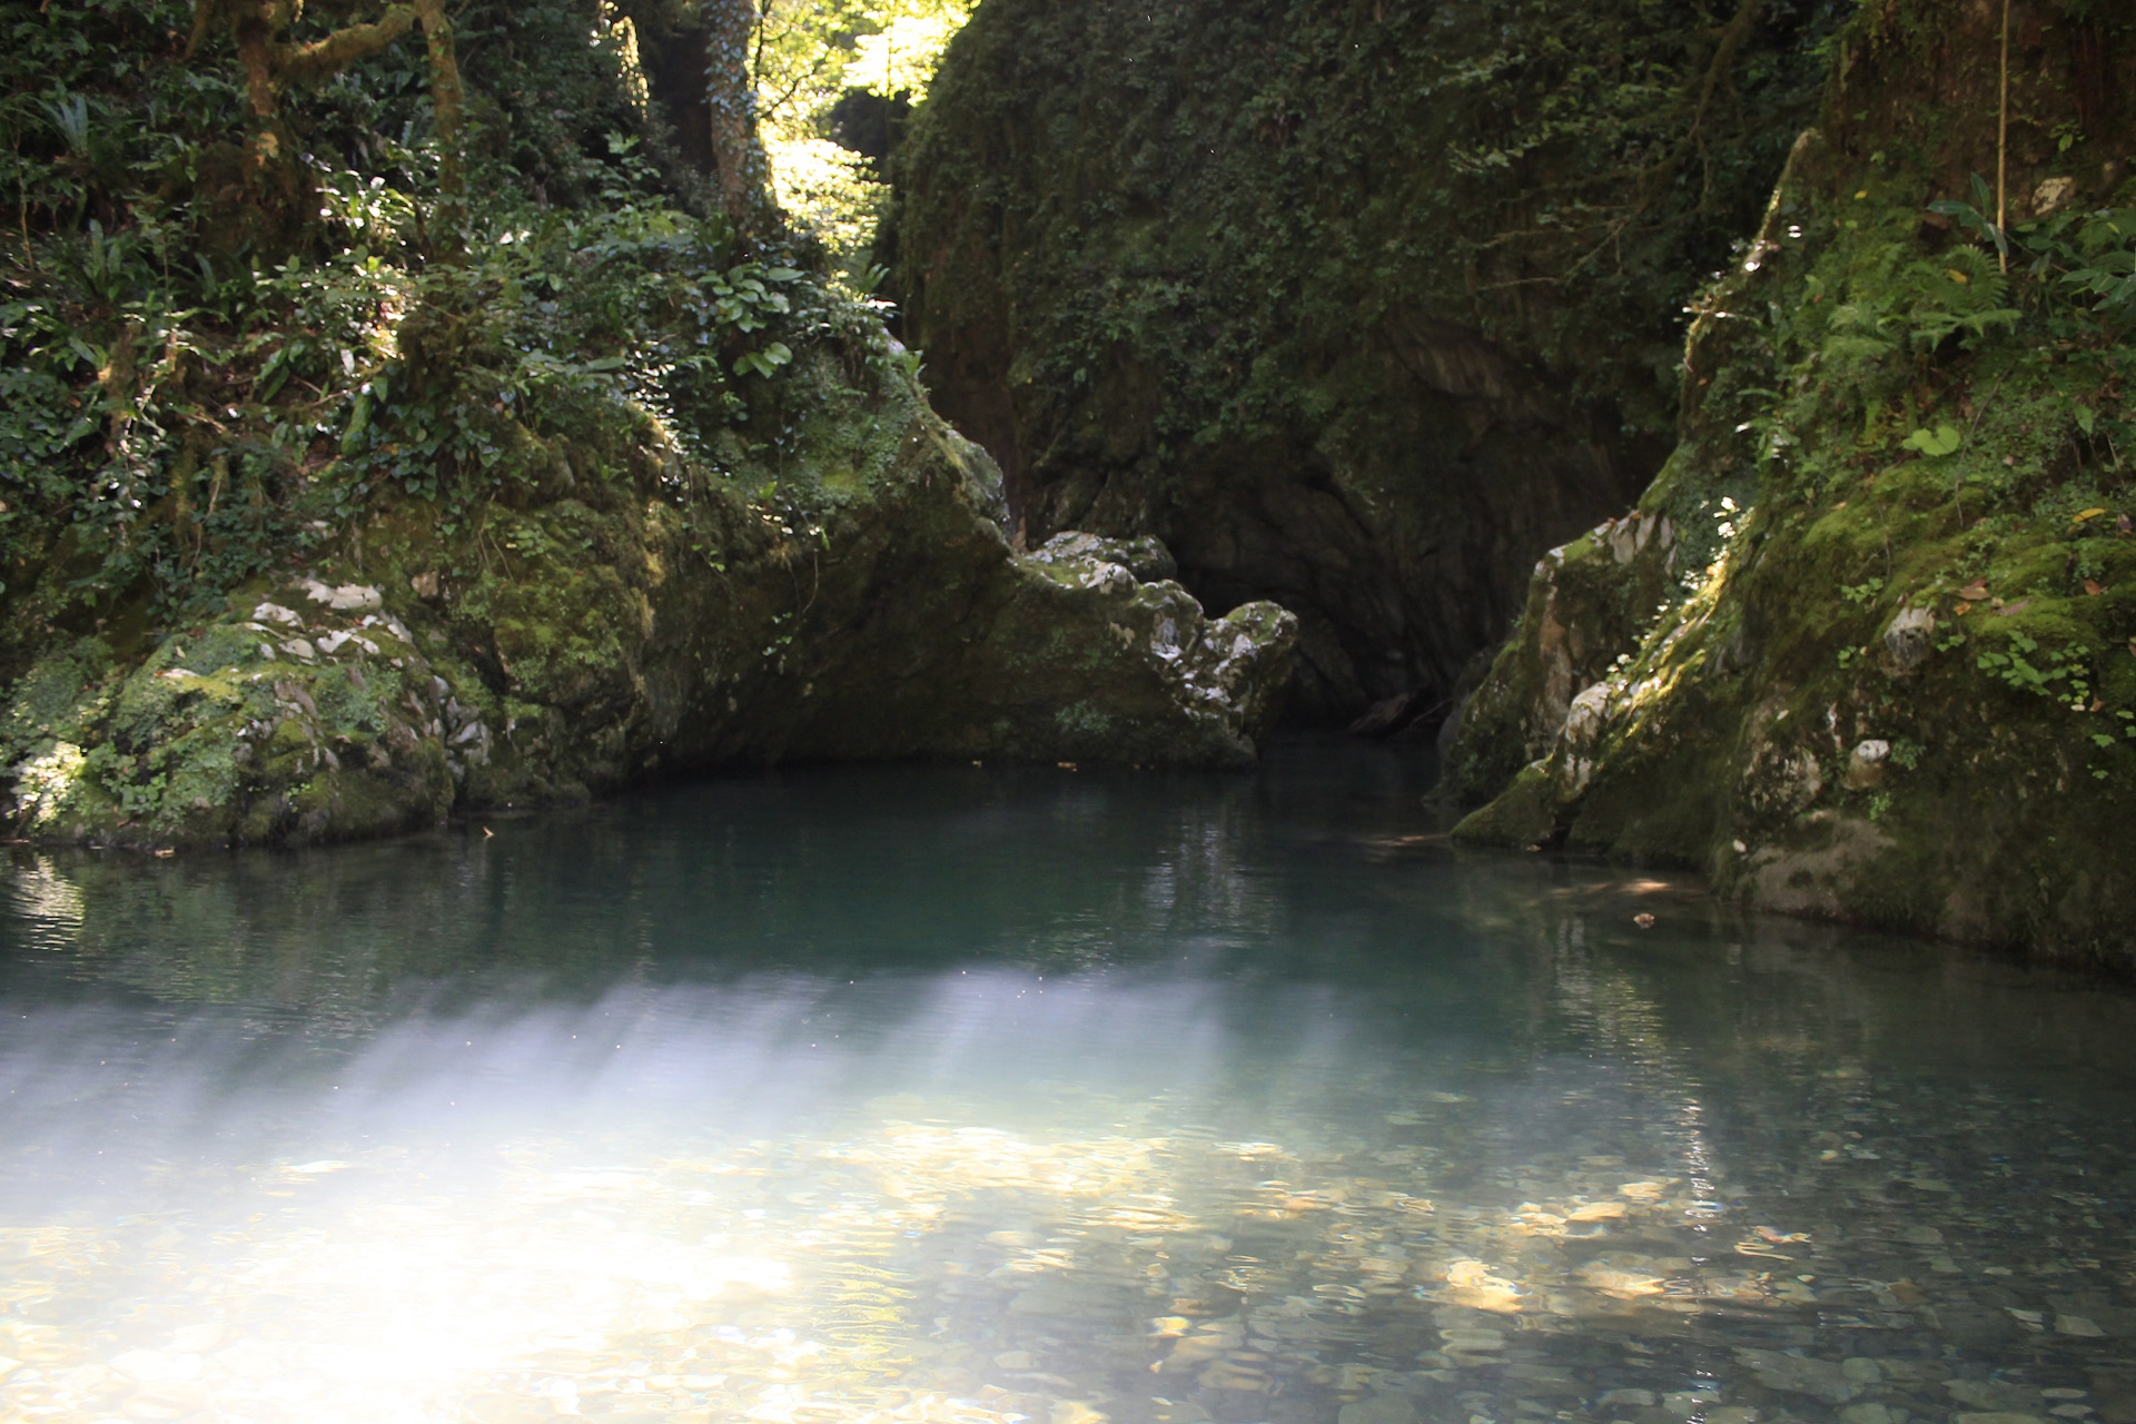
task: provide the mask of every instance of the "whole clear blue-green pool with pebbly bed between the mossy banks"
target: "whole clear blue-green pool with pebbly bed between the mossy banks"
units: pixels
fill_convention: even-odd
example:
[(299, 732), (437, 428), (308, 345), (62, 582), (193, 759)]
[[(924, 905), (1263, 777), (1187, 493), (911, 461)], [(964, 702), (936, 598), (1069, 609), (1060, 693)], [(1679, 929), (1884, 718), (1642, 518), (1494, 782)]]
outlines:
[(2136, 1420), (2136, 1001), (1427, 779), (19, 852), (0, 1420)]

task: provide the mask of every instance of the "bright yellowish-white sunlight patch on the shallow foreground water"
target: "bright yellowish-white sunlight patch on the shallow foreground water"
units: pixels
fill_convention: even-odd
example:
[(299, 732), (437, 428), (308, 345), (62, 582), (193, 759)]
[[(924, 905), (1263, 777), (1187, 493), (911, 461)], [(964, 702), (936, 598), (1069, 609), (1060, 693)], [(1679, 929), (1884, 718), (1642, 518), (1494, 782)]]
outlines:
[(1485, 1371), (1527, 1330), (1786, 1289), (1741, 1255), (1628, 1249), (1692, 1183), (1615, 1155), (1512, 1211), (1435, 1206), (1410, 1191), (1429, 1168), (1397, 1185), (1380, 1161), (1435, 1142), (1378, 1129), (1053, 1134), (871, 1106), (831, 1136), (681, 1151), (662, 1123), (493, 1155), (459, 1132), (350, 1144), (229, 1196), (171, 1178), (186, 1208), (96, 1230), (0, 1225), (0, 1418), (1087, 1424), (1079, 1356), (1173, 1398), (1354, 1390), (1341, 1371), (1365, 1366), (1326, 1351), (1382, 1315), (1429, 1313), (1427, 1368)]

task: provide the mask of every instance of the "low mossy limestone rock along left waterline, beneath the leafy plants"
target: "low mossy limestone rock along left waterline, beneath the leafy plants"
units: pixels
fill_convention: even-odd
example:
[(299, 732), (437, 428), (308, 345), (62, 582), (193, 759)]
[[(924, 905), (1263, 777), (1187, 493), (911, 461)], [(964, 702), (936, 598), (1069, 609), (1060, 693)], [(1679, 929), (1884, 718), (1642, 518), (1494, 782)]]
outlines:
[(498, 510), (508, 559), (402, 517), (363, 581), (252, 587), (132, 658), (64, 643), (0, 711), (15, 826), (325, 841), (660, 769), (1254, 758), (1292, 615), (1207, 617), (1156, 540), (1017, 555), (985, 453), (910, 386), (867, 416), (889, 457), (814, 527), (718, 485), (660, 497), (681, 455), (645, 425), (643, 444), (572, 453), (609, 478)]

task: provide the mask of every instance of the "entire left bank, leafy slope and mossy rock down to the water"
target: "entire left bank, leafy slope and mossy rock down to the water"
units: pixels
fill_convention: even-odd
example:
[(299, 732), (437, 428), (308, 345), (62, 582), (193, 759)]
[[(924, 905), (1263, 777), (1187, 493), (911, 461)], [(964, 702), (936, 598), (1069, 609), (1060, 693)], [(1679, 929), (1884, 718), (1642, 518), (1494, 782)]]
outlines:
[[(325, 53), (280, 13), (278, 53)], [(323, 841), (784, 758), (1254, 756), (1297, 621), (1207, 617), (1147, 540), (1012, 551), (993, 461), (805, 237), (703, 205), (611, 19), (461, 6), (461, 149), (406, 38), (248, 100), (186, 6), (6, 9), (19, 835)]]

